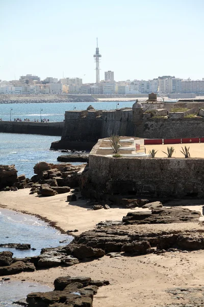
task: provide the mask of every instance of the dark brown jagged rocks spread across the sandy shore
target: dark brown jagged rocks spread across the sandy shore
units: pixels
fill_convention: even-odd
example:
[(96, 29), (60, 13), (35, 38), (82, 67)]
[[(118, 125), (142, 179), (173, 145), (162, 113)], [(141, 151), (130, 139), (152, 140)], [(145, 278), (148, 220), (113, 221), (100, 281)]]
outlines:
[[(69, 204), (69, 202), (74, 202), (73, 205), (71, 203), (71, 206), (79, 206), (78, 202), (81, 199), (79, 184), (83, 184), (81, 182), (83, 180), (81, 177), (82, 166), (73, 167), (70, 164), (53, 165), (45, 162), (39, 163), (34, 168), (35, 176), (31, 181), (23, 178), (23, 176), (17, 177), (17, 171), (15, 173), (14, 167), (1, 167), (0, 179), (4, 178), (2, 182), (5, 185), (8, 184), (8, 178), (10, 177), (11, 187), (9, 189), (15, 191), (14, 188), (21, 190), (24, 187), (29, 187), (31, 195), (28, 195), (28, 198), (34, 194), (37, 197), (42, 196), (44, 199), (47, 199), (48, 196), (50, 200), (54, 199), (58, 194), (61, 195), (62, 191), (67, 193), (71, 190), (71, 193), (69, 192), (68, 195), (65, 195), (63, 203), (67, 202)], [(7, 176), (5, 180), (7, 172), (11, 176)], [(72, 190), (73, 188), (74, 190)], [(8, 193), (8, 195), (10, 193), (18, 193), (18, 191), (5, 192), (8, 190), (7, 186), (4, 186), (2, 189), (3, 193)], [(193, 204), (191, 200), (187, 203), (191, 202)], [(199, 210), (201, 210), (202, 202), (199, 202)], [(166, 205), (167, 207), (165, 207)], [(0, 276), (4, 278), (4, 276), (9, 275), (11, 278), (14, 278), (14, 274), (19, 274), (21, 276), (19, 278), (22, 278), (24, 275), (21, 274), (35, 275), (39, 274), (39, 272), (43, 274), (46, 270), (56, 270), (56, 272), (58, 270), (65, 270), (67, 276), (57, 278), (58, 280), (62, 278), (61, 281), (66, 280), (68, 282), (64, 289), (55, 288), (53, 292), (49, 293), (29, 294), (26, 304), (29, 307), (51, 305), (52, 307), (62, 307), (64, 305), (91, 307), (93, 305), (93, 296), (97, 292), (95, 287), (103, 286), (104, 282), (92, 282), (90, 278), (86, 277), (85, 279), (89, 280), (89, 283), (84, 284), (84, 277), (70, 278), (70, 268), (73, 267), (77, 270), (79, 266), (82, 268), (81, 271), (84, 272), (83, 268), (86, 267), (86, 264), (91, 265), (93, 263), (94, 267), (96, 266), (95, 261), (100, 263), (107, 257), (123, 262), (129, 261), (128, 259), (140, 257), (144, 259), (144, 257), (152, 257), (154, 255), (165, 257), (168, 253), (185, 255), (186, 253), (190, 254), (193, 251), (202, 251), (204, 249), (204, 228), (203, 222), (200, 221), (201, 213), (197, 210), (190, 210), (182, 205), (181, 200), (174, 200), (168, 203), (167, 200), (135, 199), (134, 196), (125, 198), (125, 195), (112, 195), (108, 203), (105, 201), (97, 202), (97, 199), (88, 200), (86, 209), (84, 209), (87, 212), (87, 216), (88, 214), (95, 214), (94, 212), (101, 212), (99, 214), (103, 214), (104, 211), (111, 212), (114, 206), (118, 208), (114, 207), (115, 210), (126, 210), (126, 213), (120, 220), (103, 220), (97, 223), (94, 229), (84, 231), (79, 235), (76, 229), (77, 235), (74, 236), (70, 244), (57, 248), (44, 248), (38, 256), (13, 258), (11, 252), (2, 252), (0, 253)], [(60, 202), (59, 208), (62, 210)], [(109, 210), (101, 210), (103, 208)], [(109, 213), (107, 214), (109, 215)], [(82, 216), (79, 216), (79, 218), (82, 218)], [(53, 221), (53, 223), (55, 224), (56, 222)], [(59, 227), (58, 225), (53, 226)], [(77, 228), (77, 225), (75, 225), (75, 228)], [(70, 227), (69, 229), (73, 230), (69, 230), (68, 233), (74, 231), (75, 228)], [(55, 279), (55, 284), (57, 279)], [(191, 291), (188, 287), (185, 289), (185, 293), (188, 293), (187, 296), (184, 296), (181, 288), (178, 287), (176, 289), (168, 288), (165, 290), (165, 293), (170, 296), (176, 293), (180, 299), (184, 297), (189, 304), (177, 304), (178, 301), (175, 301), (175, 303), (170, 302), (165, 307), (198, 307), (199, 304), (196, 299), (194, 299), (196, 303), (193, 303), (196, 291)], [(193, 289), (197, 288), (194, 287)], [(200, 293), (199, 291), (198, 289), (197, 292)], [(80, 295), (75, 294), (75, 292), (80, 293)], [(135, 304), (130, 303), (128, 305), (124, 303), (124, 306), (133, 305)], [(109, 306), (116, 305), (109, 304)], [(163, 307), (164, 305), (151, 304), (149, 306)]]

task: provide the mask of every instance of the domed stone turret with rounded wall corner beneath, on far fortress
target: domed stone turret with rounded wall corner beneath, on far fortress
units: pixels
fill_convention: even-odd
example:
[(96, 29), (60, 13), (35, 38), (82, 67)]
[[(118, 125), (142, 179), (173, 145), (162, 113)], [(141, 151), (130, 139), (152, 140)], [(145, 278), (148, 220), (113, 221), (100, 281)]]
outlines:
[(133, 125), (134, 125), (134, 137), (142, 137), (143, 135), (143, 107), (142, 104), (136, 100), (133, 104)]

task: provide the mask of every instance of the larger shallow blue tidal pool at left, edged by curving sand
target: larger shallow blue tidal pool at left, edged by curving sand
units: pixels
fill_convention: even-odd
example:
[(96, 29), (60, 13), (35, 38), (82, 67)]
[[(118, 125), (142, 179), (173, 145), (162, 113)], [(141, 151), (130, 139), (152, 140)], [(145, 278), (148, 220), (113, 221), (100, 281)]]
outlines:
[(11, 251), (13, 257), (17, 258), (37, 256), (42, 248), (67, 245), (72, 239), (72, 236), (62, 234), (59, 230), (49, 227), (48, 223), (35, 216), (0, 208), (0, 244), (30, 244), (31, 248), (35, 249), (16, 250), (15, 248), (0, 247), (0, 252)]

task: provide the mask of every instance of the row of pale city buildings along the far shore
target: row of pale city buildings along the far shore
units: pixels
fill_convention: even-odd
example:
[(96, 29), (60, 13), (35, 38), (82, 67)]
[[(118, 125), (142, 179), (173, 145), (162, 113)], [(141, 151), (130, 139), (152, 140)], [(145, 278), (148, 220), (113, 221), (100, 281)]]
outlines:
[(82, 78), (21, 76), (19, 80), (1, 81), (0, 94), (204, 94), (202, 80), (183, 80), (174, 76), (161, 76), (152, 80), (114, 81), (114, 72), (105, 72), (105, 79), (98, 84), (83, 84)]

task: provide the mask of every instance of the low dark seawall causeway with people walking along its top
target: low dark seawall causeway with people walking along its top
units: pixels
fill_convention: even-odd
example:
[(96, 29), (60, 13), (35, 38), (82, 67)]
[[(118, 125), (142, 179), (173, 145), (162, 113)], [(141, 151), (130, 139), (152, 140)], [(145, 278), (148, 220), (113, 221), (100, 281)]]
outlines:
[(14, 122), (0, 121), (0, 132), (62, 136), (64, 122)]

